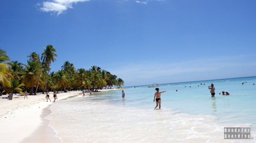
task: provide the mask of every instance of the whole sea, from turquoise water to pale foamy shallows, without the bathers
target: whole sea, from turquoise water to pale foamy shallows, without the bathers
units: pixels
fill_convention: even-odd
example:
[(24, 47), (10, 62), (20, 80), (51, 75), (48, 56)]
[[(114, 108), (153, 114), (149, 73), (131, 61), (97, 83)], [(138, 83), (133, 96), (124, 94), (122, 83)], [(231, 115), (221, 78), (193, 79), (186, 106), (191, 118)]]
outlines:
[[(121, 90), (79, 95), (55, 102), (47, 119), (62, 143), (255, 143), (223, 139), (224, 127), (251, 127), (256, 138), (253, 83), (256, 77), (160, 84), (160, 110), (153, 110), (155, 90), (147, 86), (124, 89), (125, 98)], [(218, 94), (226, 90), (230, 95)]]

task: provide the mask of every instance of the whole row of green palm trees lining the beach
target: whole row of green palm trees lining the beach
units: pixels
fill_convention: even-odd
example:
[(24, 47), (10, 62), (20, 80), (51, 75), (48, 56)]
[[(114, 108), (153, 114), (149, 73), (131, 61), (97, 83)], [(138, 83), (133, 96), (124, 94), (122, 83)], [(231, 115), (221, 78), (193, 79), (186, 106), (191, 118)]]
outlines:
[(45, 90), (91, 90), (103, 88), (122, 88), (124, 81), (95, 65), (89, 70), (76, 69), (66, 61), (61, 70), (50, 72), (50, 65), (55, 62), (56, 49), (47, 45), (41, 53), (29, 54), (26, 64), (11, 61), (5, 50), (0, 49), (0, 95), (3, 93), (21, 93), (28, 90), (29, 95)]

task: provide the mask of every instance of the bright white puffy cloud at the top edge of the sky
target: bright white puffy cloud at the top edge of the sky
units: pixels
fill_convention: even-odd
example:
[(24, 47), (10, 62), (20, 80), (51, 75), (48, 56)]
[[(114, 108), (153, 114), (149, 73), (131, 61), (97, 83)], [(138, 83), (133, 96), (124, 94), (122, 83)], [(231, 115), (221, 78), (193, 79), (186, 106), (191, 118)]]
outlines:
[(84, 2), (89, 0), (50, 0), (44, 1), (41, 11), (57, 13), (57, 15), (63, 13), (67, 8), (73, 8), (73, 3)]

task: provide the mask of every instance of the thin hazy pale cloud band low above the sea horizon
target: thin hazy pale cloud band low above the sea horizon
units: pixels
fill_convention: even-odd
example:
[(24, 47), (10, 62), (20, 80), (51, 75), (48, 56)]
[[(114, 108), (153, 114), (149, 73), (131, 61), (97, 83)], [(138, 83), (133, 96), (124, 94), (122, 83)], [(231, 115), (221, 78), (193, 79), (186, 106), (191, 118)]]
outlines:
[(122, 77), (126, 85), (214, 79), (229, 75), (240, 76), (239, 73), (253, 73), (253, 70), (255, 73), (254, 56), (256, 55), (220, 56), (185, 62), (137, 62), (123, 64), (110, 71)]

